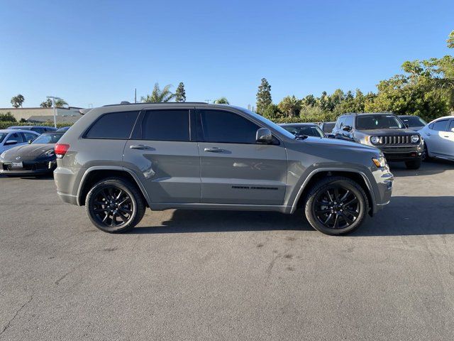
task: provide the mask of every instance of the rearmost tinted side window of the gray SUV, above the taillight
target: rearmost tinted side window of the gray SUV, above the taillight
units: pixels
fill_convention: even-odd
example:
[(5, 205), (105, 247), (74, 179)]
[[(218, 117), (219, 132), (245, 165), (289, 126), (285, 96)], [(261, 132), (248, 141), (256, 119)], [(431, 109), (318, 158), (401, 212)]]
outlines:
[(111, 112), (101, 116), (89, 129), (87, 139), (129, 139), (139, 112)]

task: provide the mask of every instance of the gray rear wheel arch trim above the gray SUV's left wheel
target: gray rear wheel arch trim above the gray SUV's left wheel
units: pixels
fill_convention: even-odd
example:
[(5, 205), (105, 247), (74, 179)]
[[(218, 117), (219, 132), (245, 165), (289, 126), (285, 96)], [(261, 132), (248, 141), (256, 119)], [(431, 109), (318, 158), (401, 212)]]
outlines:
[(133, 183), (133, 185), (135, 185), (138, 188), (139, 192), (142, 194), (143, 199), (147, 203), (147, 206), (150, 207), (150, 197), (148, 196), (145, 188), (143, 188), (143, 185), (141, 185), (139, 179), (137, 178), (137, 175), (135, 175), (135, 173), (133, 173), (133, 171), (129, 170), (128, 168), (121, 166), (94, 166), (88, 168), (87, 171), (85, 171), (84, 175), (82, 175), (82, 179), (80, 180), (80, 185), (77, 190), (77, 205), (85, 205), (87, 194), (95, 183), (102, 180), (103, 178), (111, 177), (124, 178)]

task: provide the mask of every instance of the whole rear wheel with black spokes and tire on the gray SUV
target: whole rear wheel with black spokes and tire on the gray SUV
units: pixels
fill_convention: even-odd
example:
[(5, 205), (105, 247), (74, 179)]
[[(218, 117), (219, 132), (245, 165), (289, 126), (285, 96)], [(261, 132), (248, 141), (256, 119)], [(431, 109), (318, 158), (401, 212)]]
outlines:
[(126, 232), (145, 215), (142, 194), (137, 186), (123, 178), (107, 178), (96, 183), (87, 194), (85, 207), (94, 226), (109, 233)]

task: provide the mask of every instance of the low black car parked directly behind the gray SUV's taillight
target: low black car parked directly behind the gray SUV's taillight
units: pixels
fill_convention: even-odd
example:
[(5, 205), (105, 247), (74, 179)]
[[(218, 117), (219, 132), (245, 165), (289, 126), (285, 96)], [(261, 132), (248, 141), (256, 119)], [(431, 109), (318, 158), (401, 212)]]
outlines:
[(17, 146), (0, 155), (0, 174), (42, 175), (57, 166), (54, 146), (64, 133), (44, 133), (31, 144)]

